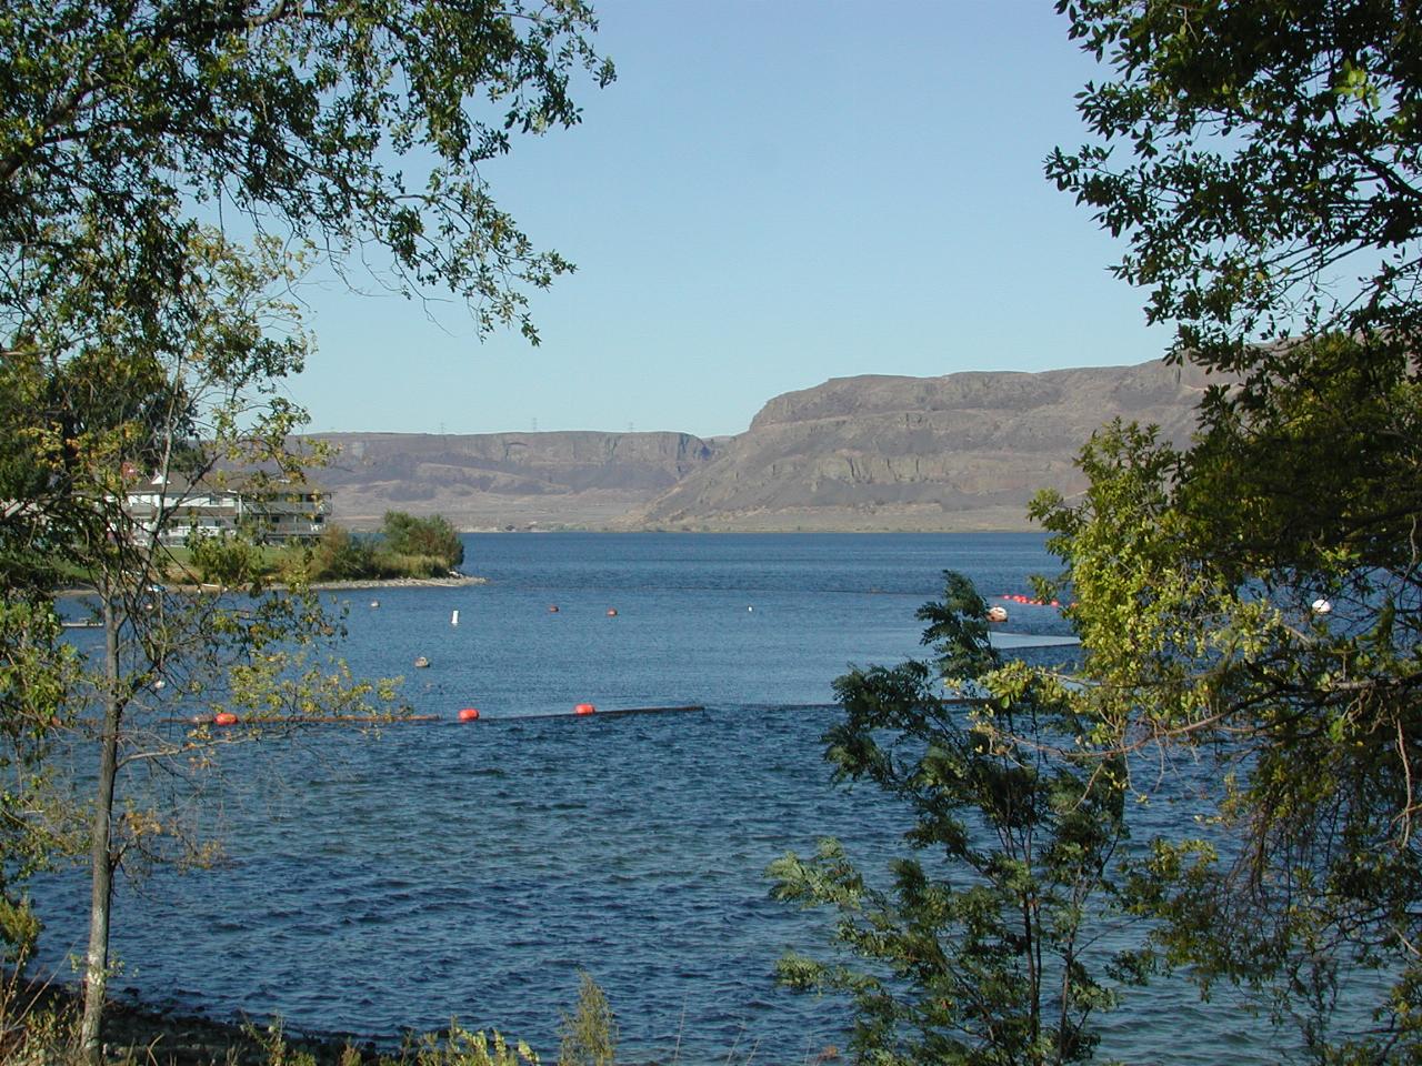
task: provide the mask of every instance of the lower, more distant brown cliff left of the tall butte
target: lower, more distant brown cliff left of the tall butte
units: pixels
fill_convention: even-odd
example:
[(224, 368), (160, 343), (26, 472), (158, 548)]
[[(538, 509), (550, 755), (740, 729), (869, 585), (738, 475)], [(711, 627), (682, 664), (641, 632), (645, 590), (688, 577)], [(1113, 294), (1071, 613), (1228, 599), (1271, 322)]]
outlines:
[(439, 513), (462, 529), (602, 526), (711, 462), (688, 434), (330, 434), (337, 522)]

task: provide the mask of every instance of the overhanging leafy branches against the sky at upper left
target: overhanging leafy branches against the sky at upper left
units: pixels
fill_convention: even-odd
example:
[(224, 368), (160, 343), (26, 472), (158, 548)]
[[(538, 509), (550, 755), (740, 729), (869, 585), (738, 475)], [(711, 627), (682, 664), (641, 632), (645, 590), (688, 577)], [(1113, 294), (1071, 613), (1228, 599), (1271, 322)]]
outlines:
[[(6, 325), (94, 289), (94, 256), (105, 297), (142, 298), (181, 266), (193, 210), (226, 208), (337, 263), (378, 247), (395, 289), (452, 289), (482, 330), (536, 337), (522, 290), (570, 264), (532, 247), (479, 165), (515, 132), (577, 121), (570, 75), (613, 77), (586, 43), (594, 28), (582, 0), (7, 6)], [(111, 233), (121, 256), (97, 249)]]

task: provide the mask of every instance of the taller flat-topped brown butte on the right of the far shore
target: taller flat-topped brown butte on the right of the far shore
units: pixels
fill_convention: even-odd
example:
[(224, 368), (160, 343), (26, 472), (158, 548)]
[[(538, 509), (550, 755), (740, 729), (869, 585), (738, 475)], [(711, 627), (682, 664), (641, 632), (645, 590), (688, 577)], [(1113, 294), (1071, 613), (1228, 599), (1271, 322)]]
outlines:
[(714, 462), (623, 527), (1027, 529), (1041, 488), (1074, 492), (1072, 459), (1111, 418), (1183, 442), (1203, 377), (1139, 367), (836, 378), (776, 397)]

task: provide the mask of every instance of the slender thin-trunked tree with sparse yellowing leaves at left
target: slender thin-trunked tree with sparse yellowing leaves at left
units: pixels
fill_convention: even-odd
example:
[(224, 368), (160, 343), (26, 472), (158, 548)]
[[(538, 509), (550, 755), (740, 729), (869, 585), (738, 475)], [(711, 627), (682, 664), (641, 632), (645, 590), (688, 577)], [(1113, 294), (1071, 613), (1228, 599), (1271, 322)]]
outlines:
[[(148, 317), (142, 330), (125, 318), (98, 324), (82, 352), (44, 371), (53, 399), (30, 415), (31, 461), (48, 493), (34, 497), (46, 500), (46, 537), (92, 584), (104, 631), (102, 650), (80, 682), (46, 694), (61, 711), (57, 723), (71, 721), (98, 756), (87, 810), (91, 910), (81, 1025), (91, 1062), (101, 1048), (115, 876), (151, 861), (206, 857), (182, 819), (201, 792), (191, 770), (219, 741), (264, 722), (375, 714), (391, 696), (313, 658), (337, 625), (307, 590), (267, 590), (253, 576), (240, 598), (228, 590), (165, 591), (171, 551), (161, 534), (182, 510), (185, 490), (166, 495), (151, 523), (129, 506), (137, 485), (152, 488), (137, 470), (156, 470), (154, 482), (164, 486), (179, 459), (181, 485), (220, 486), (233, 466), (257, 472), (249, 488), (263, 478), (301, 476), (304, 456), (286, 443), (297, 412), (262, 402), (304, 352), (299, 330), (274, 328), (294, 308), (264, 296), (286, 270), (272, 242), (249, 254), (201, 232), (186, 249), (181, 300)], [(109, 379), (148, 387), (115, 404), (87, 385), (90, 364), (107, 367)], [(239, 574), (250, 542), (236, 536), (198, 547), (208, 566)], [(41, 677), (54, 674), (37, 665)], [(183, 725), (202, 709), (209, 714)], [(240, 715), (243, 728), (219, 738), (210, 729), (218, 709)]]

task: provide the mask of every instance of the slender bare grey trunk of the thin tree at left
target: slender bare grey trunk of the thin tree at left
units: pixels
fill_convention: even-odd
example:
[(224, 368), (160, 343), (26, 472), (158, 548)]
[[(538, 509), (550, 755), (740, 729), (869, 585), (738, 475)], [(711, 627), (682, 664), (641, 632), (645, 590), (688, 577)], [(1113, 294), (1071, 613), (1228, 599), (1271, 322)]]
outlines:
[(124, 701), (118, 694), (118, 608), (104, 590), (104, 729), (100, 735), (98, 790), (94, 800), (90, 850), (90, 945), (84, 967), (84, 1021), (80, 1026), (82, 1062), (100, 1066), (104, 1046), (100, 1025), (108, 991), (108, 920), (114, 903), (114, 782), (118, 777), (118, 726)]

